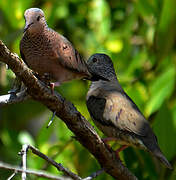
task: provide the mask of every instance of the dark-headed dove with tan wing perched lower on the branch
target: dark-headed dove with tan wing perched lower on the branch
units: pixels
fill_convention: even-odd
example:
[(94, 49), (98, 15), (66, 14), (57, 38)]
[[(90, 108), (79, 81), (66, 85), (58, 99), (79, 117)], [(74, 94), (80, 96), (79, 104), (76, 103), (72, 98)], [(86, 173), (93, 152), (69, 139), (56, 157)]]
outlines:
[(106, 80), (92, 81), (86, 97), (86, 105), (95, 125), (109, 140), (116, 140), (121, 148), (128, 146), (149, 151), (167, 168), (171, 164), (161, 152), (157, 137), (149, 122), (137, 105), (120, 85), (111, 58), (102, 53), (90, 56), (87, 61), (89, 72)]

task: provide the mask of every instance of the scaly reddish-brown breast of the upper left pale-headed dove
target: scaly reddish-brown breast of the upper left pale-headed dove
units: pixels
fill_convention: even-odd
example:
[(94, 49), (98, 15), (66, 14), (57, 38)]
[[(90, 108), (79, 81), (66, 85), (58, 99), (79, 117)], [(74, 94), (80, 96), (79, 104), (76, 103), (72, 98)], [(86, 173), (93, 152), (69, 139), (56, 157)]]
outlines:
[(51, 71), (52, 68), (57, 66), (52, 42), (42, 35), (36, 37), (24, 36), (20, 49), (24, 54), (27, 65), (39, 74)]

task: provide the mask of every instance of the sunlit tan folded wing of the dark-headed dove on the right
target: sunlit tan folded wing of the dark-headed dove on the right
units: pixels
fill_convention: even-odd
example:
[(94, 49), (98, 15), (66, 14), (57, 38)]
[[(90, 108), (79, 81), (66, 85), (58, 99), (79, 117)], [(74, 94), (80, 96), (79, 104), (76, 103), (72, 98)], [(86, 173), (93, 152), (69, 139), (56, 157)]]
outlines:
[(146, 136), (151, 130), (148, 121), (125, 92), (107, 94), (103, 119), (115, 127)]

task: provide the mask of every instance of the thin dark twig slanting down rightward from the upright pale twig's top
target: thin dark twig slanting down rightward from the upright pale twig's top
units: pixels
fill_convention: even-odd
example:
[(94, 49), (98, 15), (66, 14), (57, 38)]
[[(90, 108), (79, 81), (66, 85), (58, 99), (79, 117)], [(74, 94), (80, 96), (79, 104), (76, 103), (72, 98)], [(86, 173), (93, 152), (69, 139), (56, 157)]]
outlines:
[(59, 171), (62, 171), (65, 175), (67, 175), (67, 176), (69, 176), (69, 177), (71, 177), (71, 178), (73, 178), (75, 180), (81, 180), (82, 179), (78, 175), (76, 175), (73, 172), (71, 172), (69, 169), (63, 167), (62, 164), (57, 163), (53, 159), (49, 158), (48, 156), (46, 156), (45, 154), (40, 152), (37, 148), (35, 148), (35, 147), (31, 146), (31, 145), (28, 145), (28, 148), (31, 149), (34, 154), (36, 154), (37, 156), (39, 156), (42, 159), (46, 160), (48, 163), (50, 163), (53, 166), (55, 166)]

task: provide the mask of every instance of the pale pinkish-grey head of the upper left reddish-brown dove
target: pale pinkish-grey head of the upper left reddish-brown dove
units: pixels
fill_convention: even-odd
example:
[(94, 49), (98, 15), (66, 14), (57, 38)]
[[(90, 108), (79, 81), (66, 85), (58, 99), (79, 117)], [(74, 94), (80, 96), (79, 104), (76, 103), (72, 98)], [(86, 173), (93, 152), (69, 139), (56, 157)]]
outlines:
[(26, 23), (24, 32), (28, 31), (29, 33), (40, 33), (41, 30), (47, 26), (44, 13), (39, 8), (27, 9), (24, 13), (24, 18)]

